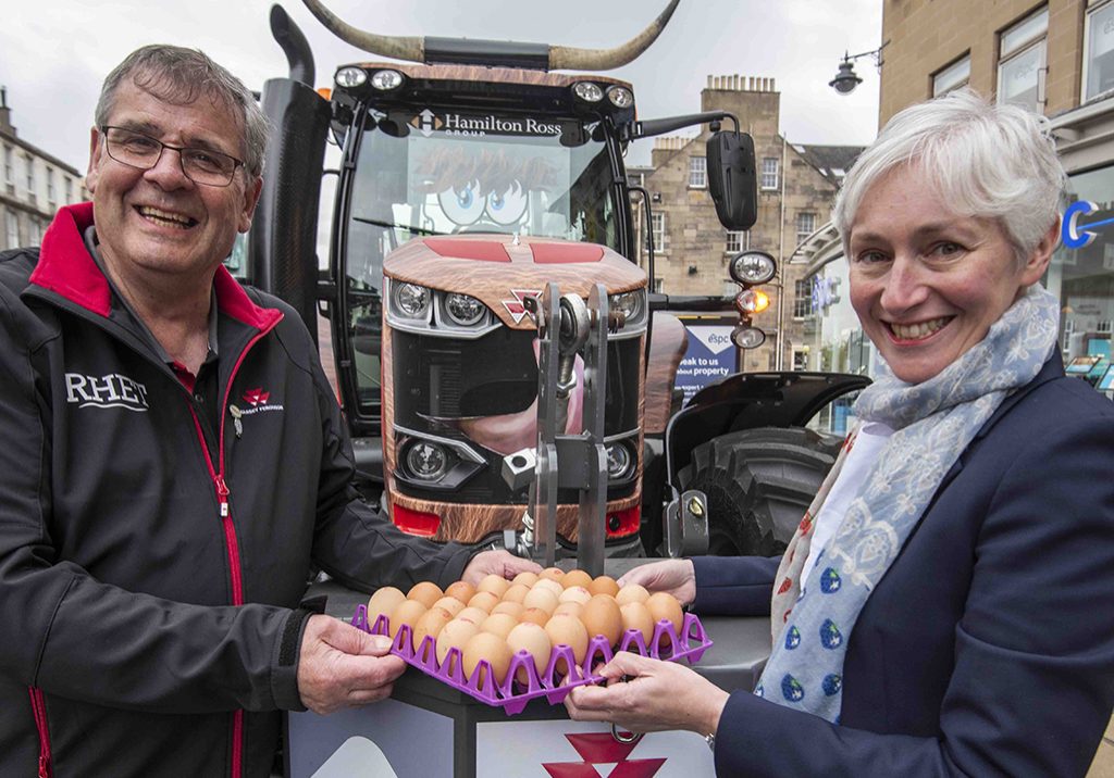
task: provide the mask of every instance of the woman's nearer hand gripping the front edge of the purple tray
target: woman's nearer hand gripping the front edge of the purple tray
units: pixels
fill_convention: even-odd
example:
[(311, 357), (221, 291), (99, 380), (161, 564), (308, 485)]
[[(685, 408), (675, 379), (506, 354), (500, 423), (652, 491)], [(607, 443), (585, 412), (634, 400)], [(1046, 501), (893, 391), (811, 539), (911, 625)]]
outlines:
[(711, 735), (727, 703), (727, 692), (688, 668), (628, 651), (616, 653), (599, 674), (606, 687), (576, 687), (565, 698), (569, 718), (610, 721), (632, 732), (687, 729)]

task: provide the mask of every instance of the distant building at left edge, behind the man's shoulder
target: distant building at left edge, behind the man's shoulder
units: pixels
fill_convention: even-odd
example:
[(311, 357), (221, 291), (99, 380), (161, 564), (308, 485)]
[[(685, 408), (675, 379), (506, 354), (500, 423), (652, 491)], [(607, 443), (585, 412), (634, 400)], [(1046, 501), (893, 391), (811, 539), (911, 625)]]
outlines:
[(0, 250), (38, 246), (59, 207), (89, 198), (82, 174), (18, 137), (2, 88), (0, 163)]

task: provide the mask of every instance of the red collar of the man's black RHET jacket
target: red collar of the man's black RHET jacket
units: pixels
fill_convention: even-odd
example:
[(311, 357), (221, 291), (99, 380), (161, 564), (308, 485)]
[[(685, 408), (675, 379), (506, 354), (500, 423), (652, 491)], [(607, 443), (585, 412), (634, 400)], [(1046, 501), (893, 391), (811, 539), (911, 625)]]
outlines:
[[(86, 228), (94, 224), (92, 203), (60, 208), (42, 236), (39, 263), (30, 282), (107, 318), (113, 293), (108, 279), (89, 256), (82, 237)], [(224, 265), (216, 269), (213, 288), (221, 312), (248, 326), (268, 329), (282, 318), (281, 311), (253, 303)]]

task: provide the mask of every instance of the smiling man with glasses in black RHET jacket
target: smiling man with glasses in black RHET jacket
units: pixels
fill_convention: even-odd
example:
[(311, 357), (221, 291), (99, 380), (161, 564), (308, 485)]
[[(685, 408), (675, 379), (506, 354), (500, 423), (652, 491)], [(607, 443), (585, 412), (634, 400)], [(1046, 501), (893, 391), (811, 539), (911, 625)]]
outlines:
[(280, 710), (390, 693), (371, 638), (300, 607), (350, 585), (536, 569), (399, 532), (296, 313), (222, 260), (266, 119), (197, 51), (104, 85), (91, 204), (0, 254), (0, 772), (266, 776)]

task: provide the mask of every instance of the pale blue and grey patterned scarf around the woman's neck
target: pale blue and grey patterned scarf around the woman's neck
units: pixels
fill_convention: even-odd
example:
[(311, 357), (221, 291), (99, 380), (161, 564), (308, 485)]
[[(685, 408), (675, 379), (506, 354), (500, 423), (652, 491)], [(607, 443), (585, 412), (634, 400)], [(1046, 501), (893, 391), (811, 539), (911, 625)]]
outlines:
[(854, 433), (785, 549), (771, 603), (773, 651), (755, 695), (839, 723), (844, 652), (863, 603), (959, 454), (1006, 396), (1040, 372), (1056, 347), (1058, 325), (1056, 297), (1034, 285), (983, 341), (928, 381), (907, 384), (881, 366), (854, 411), (895, 433), (812, 570), (802, 571), (812, 520)]

